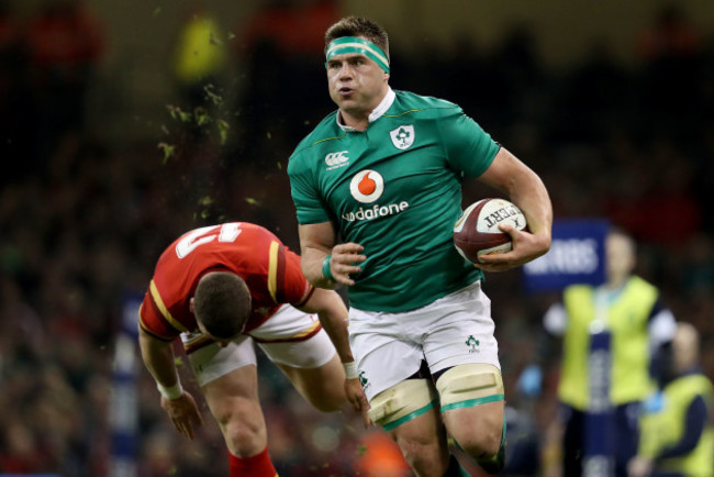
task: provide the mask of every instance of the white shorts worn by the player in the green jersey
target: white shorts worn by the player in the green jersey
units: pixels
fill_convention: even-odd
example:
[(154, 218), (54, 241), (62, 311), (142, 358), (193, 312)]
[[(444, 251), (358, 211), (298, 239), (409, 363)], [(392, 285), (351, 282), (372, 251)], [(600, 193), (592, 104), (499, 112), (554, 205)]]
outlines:
[(480, 281), (412, 311), (349, 310), (349, 344), (369, 400), (414, 375), (423, 359), (432, 374), (472, 363), (501, 369), (494, 328)]

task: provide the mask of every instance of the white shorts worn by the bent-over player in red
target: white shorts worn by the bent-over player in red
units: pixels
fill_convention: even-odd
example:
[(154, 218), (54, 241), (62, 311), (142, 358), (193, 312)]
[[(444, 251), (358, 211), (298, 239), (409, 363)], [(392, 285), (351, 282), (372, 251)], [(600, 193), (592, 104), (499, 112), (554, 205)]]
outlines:
[[(205, 337), (201, 333), (182, 333), (181, 340), (183, 346), (190, 350)], [(254, 342), (271, 362), (295, 368), (319, 368), (336, 353), (315, 314), (283, 304), (260, 326), (239, 335), (227, 346), (221, 347), (211, 342), (190, 352), (189, 362), (199, 386), (234, 369), (257, 365)]]

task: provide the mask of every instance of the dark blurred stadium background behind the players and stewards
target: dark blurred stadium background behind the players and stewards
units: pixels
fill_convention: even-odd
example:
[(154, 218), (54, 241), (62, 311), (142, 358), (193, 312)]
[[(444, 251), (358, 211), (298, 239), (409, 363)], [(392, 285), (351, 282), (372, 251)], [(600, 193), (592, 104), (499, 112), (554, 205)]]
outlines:
[[(287, 158), (334, 109), (322, 34), (347, 13), (390, 31), (393, 88), (461, 106), (540, 175), (557, 218), (629, 231), (714, 376), (714, 8), (571, 3), (0, 0), (0, 470), (107, 475), (122, 302), (180, 233), (249, 221), (298, 249)], [(208, 18), (209, 41), (182, 47)], [(209, 56), (198, 78), (177, 66)], [(465, 202), (492, 193), (468, 184)], [(535, 402), (514, 380), (555, 297), (517, 270), (486, 289), (507, 401), (547, 457), (557, 373)], [(140, 474), (225, 475), (208, 409), (185, 441), (140, 375)], [(267, 362), (259, 375), (281, 475), (404, 475), (383, 433), (311, 410)]]

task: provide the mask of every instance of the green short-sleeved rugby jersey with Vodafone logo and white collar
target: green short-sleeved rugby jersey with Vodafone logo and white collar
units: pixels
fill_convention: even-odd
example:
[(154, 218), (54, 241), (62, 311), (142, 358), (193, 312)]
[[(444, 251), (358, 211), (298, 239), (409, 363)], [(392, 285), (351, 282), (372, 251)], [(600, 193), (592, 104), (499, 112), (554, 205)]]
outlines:
[(366, 131), (327, 115), (288, 164), (300, 224), (332, 221), (367, 260), (350, 306), (408, 311), (483, 277), (456, 252), (461, 180), (480, 176), (499, 145), (458, 106), (390, 90)]

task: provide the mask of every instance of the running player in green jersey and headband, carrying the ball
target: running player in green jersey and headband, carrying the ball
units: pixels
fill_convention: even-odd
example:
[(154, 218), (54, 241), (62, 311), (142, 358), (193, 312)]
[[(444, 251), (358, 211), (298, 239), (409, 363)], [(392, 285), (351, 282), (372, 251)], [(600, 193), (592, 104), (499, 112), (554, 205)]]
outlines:
[[(288, 174), (302, 268), (348, 287), (349, 339), (369, 399), (416, 475), (464, 475), (447, 433), (490, 473), (503, 466), (504, 390), (483, 271), (550, 247), (553, 211), (538, 176), (448, 101), (389, 87), (384, 30), (345, 18), (325, 34), (328, 114), (295, 148)], [(475, 267), (454, 248), (466, 177), (523, 210), (513, 249)], [(359, 403), (354, 403), (360, 409)]]

